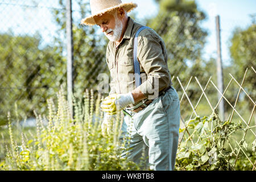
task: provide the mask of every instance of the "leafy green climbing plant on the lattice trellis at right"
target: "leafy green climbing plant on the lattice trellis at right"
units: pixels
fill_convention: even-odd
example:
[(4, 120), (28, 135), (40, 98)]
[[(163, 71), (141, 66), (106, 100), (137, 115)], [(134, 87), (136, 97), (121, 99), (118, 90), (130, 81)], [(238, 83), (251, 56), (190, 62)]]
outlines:
[[(186, 121), (185, 126), (187, 127), (180, 129), (180, 133), (186, 130), (188, 135), (186, 137), (183, 133), (184, 139), (179, 144), (175, 166), (177, 170), (252, 169), (250, 164), (246, 165), (247, 168), (241, 167), (248, 163), (242, 154), (238, 155), (237, 165), (234, 167), (239, 148), (247, 150), (245, 140), (241, 140), (236, 147), (230, 144), (233, 134), (242, 130), (241, 122), (221, 121), (214, 111), (210, 117), (196, 117)], [(255, 152), (251, 152), (250, 157), (255, 160)]]

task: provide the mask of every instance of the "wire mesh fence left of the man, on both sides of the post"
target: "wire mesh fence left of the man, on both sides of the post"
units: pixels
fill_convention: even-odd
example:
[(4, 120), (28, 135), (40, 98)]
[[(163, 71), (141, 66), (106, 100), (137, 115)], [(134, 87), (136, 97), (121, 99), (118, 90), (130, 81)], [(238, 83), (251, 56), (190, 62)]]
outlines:
[[(73, 1), (73, 80), (75, 94), (97, 85), (106, 72), (104, 46), (80, 25), (88, 2)], [(1, 1), (0, 119), (6, 122), (15, 104), (20, 117), (44, 113), (46, 100), (67, 87), (65, 1)], [(4, 25), (4, 26), (3, 26)], [(103, 44), (101, 43), (101, 44)], [(89, 46), (88, 46), (89, 44)]]

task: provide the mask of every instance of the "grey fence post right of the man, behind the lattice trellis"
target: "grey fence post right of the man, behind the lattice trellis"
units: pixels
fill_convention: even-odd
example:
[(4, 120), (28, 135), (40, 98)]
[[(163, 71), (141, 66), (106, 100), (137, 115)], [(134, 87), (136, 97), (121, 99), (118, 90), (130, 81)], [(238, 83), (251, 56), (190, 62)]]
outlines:
[[(220, 15), (216, 16), (216, 35), (217, 35), (217, 81), (218, 81), (218, 89), (221, 93), (224, 90), (223, 84), (223, 72), (222, 72), (222, 57), (221, 57), (221, 39), (220, 39)], [(221, 94), (218, 94), (218, 100), (220, 100)], [(224, 100), (222, 99), (220, 105), (218, 105), (218, 112), (220, 119), (225, 120), (225, 107)]]

